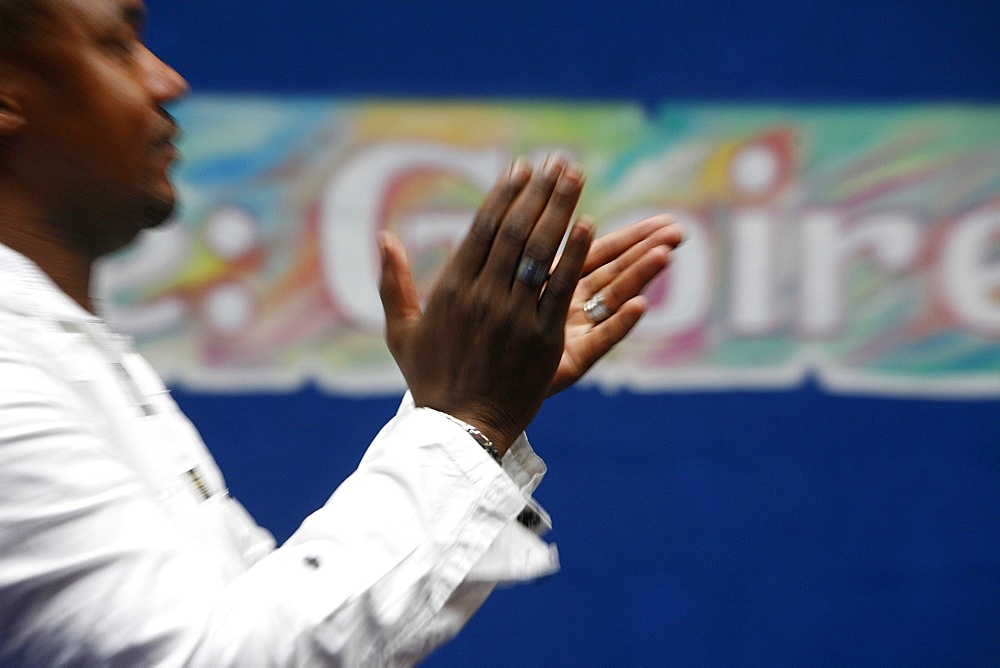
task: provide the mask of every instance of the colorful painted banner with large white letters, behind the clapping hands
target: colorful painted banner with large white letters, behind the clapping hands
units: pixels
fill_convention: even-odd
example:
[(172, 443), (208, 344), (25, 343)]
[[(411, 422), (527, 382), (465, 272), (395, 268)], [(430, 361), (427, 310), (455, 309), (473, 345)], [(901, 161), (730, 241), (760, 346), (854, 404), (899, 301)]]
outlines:
[(375, 234), (432, 284), (517, 155), (581, 162), (598, 232), (688, 240), (608, 389), (1000, 396), (1000, 108), (196, 96), (176, 220), (109, 260), (108, 317), (171, 381), (398, 392)]

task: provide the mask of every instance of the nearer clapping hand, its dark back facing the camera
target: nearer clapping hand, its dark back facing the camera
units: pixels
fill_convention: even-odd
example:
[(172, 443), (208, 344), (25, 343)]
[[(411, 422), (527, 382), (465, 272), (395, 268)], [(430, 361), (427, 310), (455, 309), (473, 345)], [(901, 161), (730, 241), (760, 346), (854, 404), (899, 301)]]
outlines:
[(580, 168), (561, 156), (534, 174), (515, 162), (487, 195), (423, 312), (402, 244), (379, 235), (386, 341), (414, 402), (477, 427), (501, 454), (552, 386), (590, 226), (573, 226), (547, 281), (519, 277), (519, 267), (522, 258), (543, 271), (552, 265), (582, 187)]

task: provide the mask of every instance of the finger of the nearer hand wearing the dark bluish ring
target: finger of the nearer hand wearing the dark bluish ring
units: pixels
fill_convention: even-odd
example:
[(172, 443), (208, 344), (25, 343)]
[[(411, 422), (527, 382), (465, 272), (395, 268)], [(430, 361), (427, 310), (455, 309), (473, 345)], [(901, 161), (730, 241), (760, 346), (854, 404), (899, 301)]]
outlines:
[(583, 183), (583, 168), (577, 163), (570, 163), (559, 175), (552, 196), (525, 243), (523, 257), (519, 260), (515, 277), (522, 280), (516, 280), (512, 288), (515, 297), (538, 299), (542, 289), (541, 283), (523, 280), (521, 267), (525, 262), (533, 262), (547, 276), (556, 251), (559, 250), (559, 244), (566, 234), (566, 228), (569, 227), (576, 203), (580, 200)]

